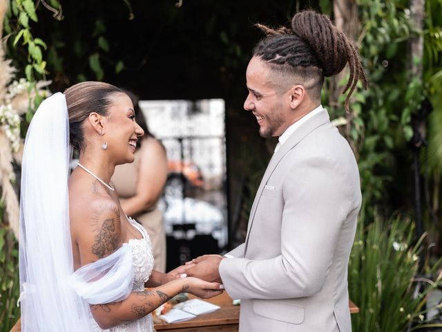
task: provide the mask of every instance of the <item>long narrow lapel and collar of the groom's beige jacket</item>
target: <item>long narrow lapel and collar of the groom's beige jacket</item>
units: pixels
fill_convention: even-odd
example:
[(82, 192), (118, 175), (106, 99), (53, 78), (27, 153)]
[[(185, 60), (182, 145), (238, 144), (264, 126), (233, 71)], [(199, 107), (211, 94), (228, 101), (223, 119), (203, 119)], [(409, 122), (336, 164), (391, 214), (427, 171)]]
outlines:
[(260, 186), (258, 187), (258, 191), (256, 192), (255, 199), (253, 200), (253, 205), (249, 216), (249, 225), (247, 228), (247, 239), (246, 239), (246, 246), (244, 249), (244, 255), (247, 252), (247, 245), (249, 243), (251, 226), (253, 225), (253, 219), (255, 218), (256, 208), (258, 207), (262, 190), (264, 190), (264, 187), (267, 184), (267, 181), (269, 180), (271, 174), (273, 174), (273, 172), (276, 169), (276, 166), (278, 166), (278, 164), (280, 163), (282, 158), (287, 154), (287, 152), (289, 152), (291, 149), (296, 147), (296, 145), (298, 145), (298, 143), (302, 139), (308, 136), (309, 133), (314, 131), (316, 128), (322, 126), (323, 124), (326, 124), (327, 122), (330, 122), (329, 115), (327, 111), (323, 109), (323, 111), (320, 111), (320, 113), (316, 114), (316, 116), (310, 118), (304, 124), (302, 124), (298, 129), (296, 129), (296, 131), (294, 131), (294, 133), (292, 133), (291, 136), (289, 136), (287, 141), (283, 145), (281, 145), (280, 149), (271, 157), (269, 165), (265, 170), (265, 174), (264, 176), (262, 176), (262, 180)]

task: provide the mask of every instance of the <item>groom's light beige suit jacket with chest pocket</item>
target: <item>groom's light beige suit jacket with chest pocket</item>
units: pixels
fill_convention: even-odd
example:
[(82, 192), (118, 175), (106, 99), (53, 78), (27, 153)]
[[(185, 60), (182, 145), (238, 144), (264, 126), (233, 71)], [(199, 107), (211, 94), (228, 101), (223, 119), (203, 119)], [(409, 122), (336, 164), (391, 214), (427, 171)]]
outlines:
[(247, 239), (223, 259), (240, 331), (349, 332), (347, 265), (361, 208), (352, 149), (320, 111), (273, 155)]

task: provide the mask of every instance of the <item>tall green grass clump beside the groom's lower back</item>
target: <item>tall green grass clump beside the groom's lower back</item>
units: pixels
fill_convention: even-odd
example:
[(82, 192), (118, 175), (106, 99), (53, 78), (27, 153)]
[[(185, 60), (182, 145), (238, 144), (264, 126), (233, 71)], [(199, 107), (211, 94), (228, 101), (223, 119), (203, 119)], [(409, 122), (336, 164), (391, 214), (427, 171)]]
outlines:
[(385, 221), (375, 216), (364, 227), (364, 212), (365, 207), (349, 261), (349, 295), (360, 308), (352, 315), (353, 331), (402, 332), (429, 325), (424, 305), (427, 294), (441, 284), (441, 276), (434, 282), (418, 278), (419, 259), (425, 260), (426, 275), (435, 275), (441, 260), (430, 266), (429, 259), (420, 258), (425, 256), (424, 237), (414, 243), (410, 219), (397, 216)]

